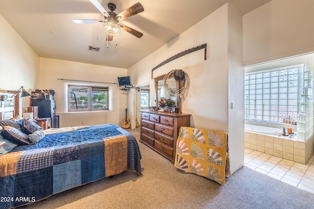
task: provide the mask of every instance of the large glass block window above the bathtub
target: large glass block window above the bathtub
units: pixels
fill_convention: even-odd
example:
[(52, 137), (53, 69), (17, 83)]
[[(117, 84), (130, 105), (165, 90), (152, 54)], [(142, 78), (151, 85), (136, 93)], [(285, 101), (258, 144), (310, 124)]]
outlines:
[(283, 122), (296, 120), (298, 67), (245, 73), (245, 119)]

